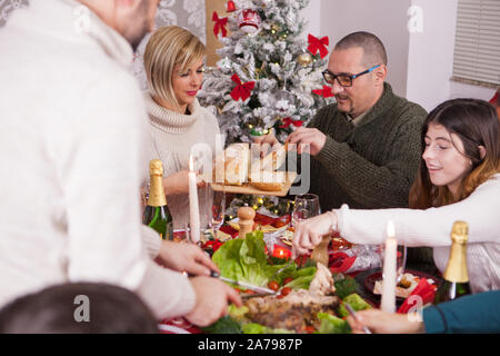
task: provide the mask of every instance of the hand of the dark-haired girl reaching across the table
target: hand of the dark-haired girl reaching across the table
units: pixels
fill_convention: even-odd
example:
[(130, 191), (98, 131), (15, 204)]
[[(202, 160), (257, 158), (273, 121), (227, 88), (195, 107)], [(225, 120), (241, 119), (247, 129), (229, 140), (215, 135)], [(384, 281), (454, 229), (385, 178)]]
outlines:
[(300, 221), (293, 234), (292, 258), (296, 258), (296, 254), (304, 255), (319, 245), (324, 235), (332, 233), (332, 226), (337, 226), (337, 215), (333, 211)]

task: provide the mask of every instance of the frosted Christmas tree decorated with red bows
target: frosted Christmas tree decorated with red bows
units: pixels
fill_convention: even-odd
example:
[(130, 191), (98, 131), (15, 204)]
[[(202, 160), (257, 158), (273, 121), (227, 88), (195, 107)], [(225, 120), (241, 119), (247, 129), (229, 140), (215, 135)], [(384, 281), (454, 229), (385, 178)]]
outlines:
[[(219, 118), (226, 144), (251, 142), (274, 129), (280, 141), (332, 100), (323, 86), (328, 37), (301, 38), (309, 0), (229, 0), (213, 12), (223, 47), (207, 68), (199, 100)], [(330, 99), (327, 99), (330, 98)]]

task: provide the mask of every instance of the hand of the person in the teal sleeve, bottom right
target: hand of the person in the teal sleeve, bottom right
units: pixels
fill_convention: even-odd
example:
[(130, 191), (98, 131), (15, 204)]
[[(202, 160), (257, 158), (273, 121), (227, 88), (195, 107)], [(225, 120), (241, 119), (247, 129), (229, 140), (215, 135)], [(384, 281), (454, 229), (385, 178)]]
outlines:
[(363, 326), (376, 334), (417, 334), (424, 332), (422, 318), (417, 313), (396, 314), (380, 309), (368, 309), (356, 313), (356, 319), (347, 318), (352, 332), (364, 334)]

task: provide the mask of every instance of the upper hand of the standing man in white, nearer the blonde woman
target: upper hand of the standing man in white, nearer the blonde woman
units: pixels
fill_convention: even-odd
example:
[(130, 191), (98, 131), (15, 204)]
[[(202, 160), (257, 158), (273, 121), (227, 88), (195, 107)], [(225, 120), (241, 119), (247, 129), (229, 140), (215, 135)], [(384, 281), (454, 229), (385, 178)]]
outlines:
[(211, 270), (219, 273), (210, 257), (201, 248), (190, 244), (162, 241), (156, 261), (167, 268), (197, 276), (210, 276)]

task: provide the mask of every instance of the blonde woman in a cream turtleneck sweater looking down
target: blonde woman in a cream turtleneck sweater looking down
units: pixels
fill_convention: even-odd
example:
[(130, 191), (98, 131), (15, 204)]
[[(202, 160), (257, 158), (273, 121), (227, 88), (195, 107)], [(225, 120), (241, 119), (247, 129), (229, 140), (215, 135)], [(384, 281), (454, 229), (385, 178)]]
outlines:
[[(173, 228), (189, 222), (188, 169), (191, 148), (207, 144), (216, 152), (217, 118), (200, 107), (197, 92), (203, 80), (204, 44), (177, 26), (162, 27), (144, 51), (148, 91), (144, 92), (151, 134), (150, 158), (163, 161), (163, 186)], [(199, 187), (204, 182), (199, 181)], [(201, 224), (206, 226), (206, 189), (198, 189)]]

